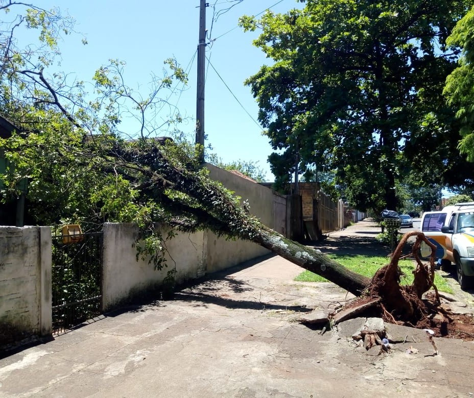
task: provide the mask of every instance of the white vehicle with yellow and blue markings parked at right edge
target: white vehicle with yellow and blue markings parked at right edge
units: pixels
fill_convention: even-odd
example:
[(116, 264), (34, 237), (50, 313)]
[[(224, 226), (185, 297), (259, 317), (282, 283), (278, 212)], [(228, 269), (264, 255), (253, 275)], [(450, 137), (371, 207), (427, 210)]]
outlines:
[[(446, 206), (441, 211), (426, 212), (421, 219), (421, 232), (436, 245), (436, 257), (443, 269), (452, 263), (461, 289), (474, 285), (474, 202)], [(431, 250), (422, 245), (421, 256)]]

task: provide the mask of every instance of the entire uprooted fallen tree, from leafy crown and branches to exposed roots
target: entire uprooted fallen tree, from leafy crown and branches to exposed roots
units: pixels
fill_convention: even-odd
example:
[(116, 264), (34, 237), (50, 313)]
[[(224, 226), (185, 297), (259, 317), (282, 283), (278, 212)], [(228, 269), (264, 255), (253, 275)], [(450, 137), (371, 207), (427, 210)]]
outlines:
[[(0, 175), (2, 203), (24, 195), (20, 182), (28, 179), (26, 196), (35, 223), (80, 222), (84, 230), (91, 230), (100, 229), (105, 221), (135, 222), (144, 232), (140, 254), (151, 256), (158, 267), (162, 241), (172, 234), (161, 236), (156, 222), (186, 232), (210, 229), (230, 239), (258, 243), (373, 301), (394, 321), (416, 322), (425, 316), (420, 297), (433, 286), (433, 258), (430, 265), (418, 261), (414, 284), (400, 287), (401, 249), (397, 248), (390, 264), (370, 280), (262, 225), (245, 203), (208, 178), (198, 161), (203, 148), (152, 138), (162, 126), (159, 110), (169, 105), (167, 96), (161, 98), (159, 92), (174, 91), (173, 82), (187, 81), (176, 60), (165, 61), (167, 72), (162, 79), (153, 79), (147, 97), (125, 85), (123, 63), (112, 60), (94, 74), (98, 97), (86, 101), (82, 83), (68, 86), (61, 73), (55, 73), (53, 81), (44, 74), (58, 54), (62, 18), (55, 10), (33, 7), (26, 12), (28, 27), (39, 29), (41, 48), (50, 52), (37, 57), (35, 52), (21, 51), (14, 40), (18, 24), (13, 21), (4, 28), (8, 34), (4, 35), (6, 62), (0, 70), (5, 82), (0, 88), (0, 112), (22, 134), (0, 139), (0, 153), (7, 160), (6, 172)], [(138, 120), (136, 131), (120, 130), (124, 113)], [(182, 121), (175, 109), (170, 113), (163, 125)], [(415, 247), (423, 239), (422, 234), (417, 236)]]

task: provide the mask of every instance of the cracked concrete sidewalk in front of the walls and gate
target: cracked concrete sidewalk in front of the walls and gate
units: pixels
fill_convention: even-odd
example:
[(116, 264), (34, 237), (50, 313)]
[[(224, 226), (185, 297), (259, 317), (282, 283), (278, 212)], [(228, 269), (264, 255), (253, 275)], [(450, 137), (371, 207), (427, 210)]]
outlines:
[(0, 396), (472, 396), (472, 342), (436, 338), (433, 355), (424, 332), (389, 327), (406, 342), (377, 355), (350, 337), (365, 319), (323, 334), (300, 324), (351, 298), (334, 284), (294, 282), (301, 270), (267, 257), (172, 301), (106, 314), (0, 360)]

